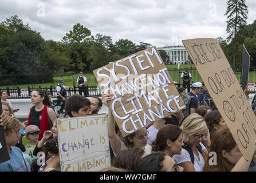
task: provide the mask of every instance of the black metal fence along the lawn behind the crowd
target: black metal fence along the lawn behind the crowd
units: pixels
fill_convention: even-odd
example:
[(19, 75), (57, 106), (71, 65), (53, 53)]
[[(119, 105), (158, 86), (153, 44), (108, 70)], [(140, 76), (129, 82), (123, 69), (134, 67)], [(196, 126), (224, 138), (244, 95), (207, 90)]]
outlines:
[[(239, 83), (241, 83), (242, 79), (242, 69), (233, 69), (235, 75), (238, 78)], [(182, 78), (180, 77), (183, 73), (184, 69), (168, 69), (172, 79), (180, 84), (176, 85), (177, 87), (182, 86)], [(198, 71), (190, 67), (188, 71), (192, 75), (192, 83), (193, 82), (202, 82), (202, 78), (200, 77)], [(99, 89), (97, 88), (97, 80), (94, 77), (92, 72), (84, 72), (84, 75), (87, 79), (88, 84), (88, 97), (92, 96), (100, 96)], [(0, 91), (6, 91), (9, 98), (30, 98), (30, 93), (33, 92), (34, 89), (42, 88), (47, 92), (53, 94), (53, 97), (57, 96), (56, 86), (58, 84), (58, 79), (64, 79), (65, 86), (73, 86), (73, 89), (68, 89), (68, 95), (78, 94), (77, 87), (77, 78), (79, 77), (79, 73), (74, 73), (70, 71), (68, 73), (50, 73), (50, 74), (2, 74), (0, 75)], [(32, 79), (33, 78), (33, 79)], [(44, 80), (44, 78), (47, 78)], [(50, 82), (49, 82), (50, 80)], [(2, 81), (2, 82), (1, 82)], [(9, 85), (2, 85), (2, 83), (6, 83), (6, 81), (14, 81), (13, 83), (9, 83)], [(25, 82), (26, 83), (23, 83)], [(256, 68), (250, 68), (249, 72), (249, 82), (256, 82)], [(22, 94), (21, 89), (27, 89), (29, 94)]]

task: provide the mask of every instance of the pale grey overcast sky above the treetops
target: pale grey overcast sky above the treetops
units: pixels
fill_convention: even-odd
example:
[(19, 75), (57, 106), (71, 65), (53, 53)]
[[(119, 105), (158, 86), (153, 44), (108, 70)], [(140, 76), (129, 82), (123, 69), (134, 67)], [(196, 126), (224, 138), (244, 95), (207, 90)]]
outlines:
[[(247, 23), (256, 19), (256, 1), (247, 0)], [(61, 41), (76, 23), (113, 43), (129, 39), (156, 47), (182, 39), (226, 38), (225, 0), (0, 0), (0, 22), (18, 15), (45, 40)]]

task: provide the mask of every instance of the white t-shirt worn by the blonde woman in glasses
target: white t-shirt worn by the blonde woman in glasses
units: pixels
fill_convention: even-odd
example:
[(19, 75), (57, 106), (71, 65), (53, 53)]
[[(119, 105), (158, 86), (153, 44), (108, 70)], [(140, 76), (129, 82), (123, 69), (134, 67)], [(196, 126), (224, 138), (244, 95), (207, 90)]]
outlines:
[[(200, 145), (202, 146), (202, 150), (206, 148), (201, 142), (200, 142)], [(198, 150), (198, 149), (196, 149), (196, 150)], [(194, 158), (195, 158), (195, 160), (194, 160), (195, 171), (202, 172), (203, 166), (204, 166), (203, 156), (198, 151), (199, 158), (200, 158), (200, 161), (199, 161), (198, 157), (195, 155), (195, 153), (193, 153), (193, 154), (194, 154)], [(188, 153), (188, 151), (184, 148), (182, 148), (182, 154), (175, 154), (172, 158), (177, 162), (177, 164), (181, 164), (182, 162), (191, 161), (190, 153)]]

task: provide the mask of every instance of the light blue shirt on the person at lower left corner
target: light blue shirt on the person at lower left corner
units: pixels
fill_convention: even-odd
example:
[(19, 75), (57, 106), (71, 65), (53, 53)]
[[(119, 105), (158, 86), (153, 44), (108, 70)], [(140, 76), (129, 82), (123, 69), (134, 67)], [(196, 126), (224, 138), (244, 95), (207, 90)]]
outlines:
[(11, 146), (10, 160), (0, 164), (0, 172), (30, 172), (21, 149)]

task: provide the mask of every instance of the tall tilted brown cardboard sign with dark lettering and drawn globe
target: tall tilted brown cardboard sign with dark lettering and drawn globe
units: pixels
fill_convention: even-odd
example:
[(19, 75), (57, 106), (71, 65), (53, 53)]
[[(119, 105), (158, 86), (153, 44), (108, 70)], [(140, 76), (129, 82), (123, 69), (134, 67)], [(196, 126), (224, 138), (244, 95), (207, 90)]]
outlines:
[(256, 117), (218, 41), (213, 38), (188, 39), (183, 44), (248, 160), (256, 139)]

